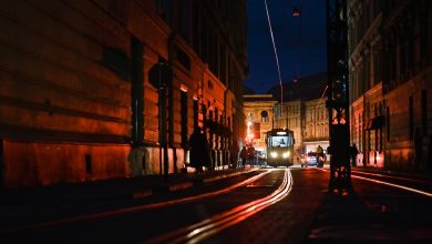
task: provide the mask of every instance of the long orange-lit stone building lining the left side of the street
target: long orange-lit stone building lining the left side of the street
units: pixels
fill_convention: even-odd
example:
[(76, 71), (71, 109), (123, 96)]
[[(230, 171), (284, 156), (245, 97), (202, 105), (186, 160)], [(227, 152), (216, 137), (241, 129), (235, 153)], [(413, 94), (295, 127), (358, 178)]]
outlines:
[[(215, 164), (228, 164), (244, 131), (246, 0), (0, 9), (4, 186), (176, 173), (194, 126), (208, 131)], [(150, 75), (157, 63), (172, 79)]]

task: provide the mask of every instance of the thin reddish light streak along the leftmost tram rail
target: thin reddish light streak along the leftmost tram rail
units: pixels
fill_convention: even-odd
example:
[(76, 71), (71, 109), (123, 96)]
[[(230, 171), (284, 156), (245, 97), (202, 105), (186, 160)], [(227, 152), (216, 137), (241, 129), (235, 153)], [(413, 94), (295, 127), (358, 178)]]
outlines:
[(138, 211), (144, 211), (144, 210), (155, 210), (155, 209), (161, 209), (161, 207), (165, 207), (165, 206), (172, 206), (172, 205), (179, 204), (179, 203), (197, 201), (197, 200), (202, 200), (205, 197), (216, 196), (216, 195), (220, 195), (220, 194), (230, 192), (237, 187), (240, 187), (243, 185), (247, 185), (254, 181), (257, 181), (258, 179), (263, 177), (264, 175), (266, 175), (270, 172), (271, 171), (265, 171), (260, 174), (257, 174), (257, 175), (249, 177), (249, 179), (247, 179), (243, 182), (239, 182), (237, 184), (230, 185), (226, 189), (222, 189), (222, 190), (218, 190), (215, 192), (204, 193), (200, 195), (195, 195), (195, 196), (189, 196), (189, 197), (184, 197), (184, 199), (178, 199), (178, 200), (172, 200), (172, 201), (165, 201), (165, 202), (161, 202), (161, 203), (153, 203), (153, 204), (147, 204), (147, 205), (138, 205), (138, 206), (125, 207), (125, 209), (120, 209), (120, 210), (106, 211), (106, 212), (102, 212), (102, 213), (80, 215), (80, 216), (61, 218), (61, 220), (55, 220), (55, 221), (40, 222), (37, 224), (24, 225), (24, 226), (19, 226), (19, 227), (13, 227), (13, 228), (4, 228), (4, 230), (0, 231), (0, 234), (11, 234), (11, 233), (18, 233), (18, 232), (29, 231), (29, 230), (53, 227), (53, 226), (58, 226), (58, 225), (64, 225), (64, 224), (71, 224), (71, 223), (76, 223), (76, 222), (84, 222), (84, 221), (92, 221), (92, 220), (110, 217), (110, 216), (120, 215), (120, 214), (134, 213), (134, 212), (138, 212)]

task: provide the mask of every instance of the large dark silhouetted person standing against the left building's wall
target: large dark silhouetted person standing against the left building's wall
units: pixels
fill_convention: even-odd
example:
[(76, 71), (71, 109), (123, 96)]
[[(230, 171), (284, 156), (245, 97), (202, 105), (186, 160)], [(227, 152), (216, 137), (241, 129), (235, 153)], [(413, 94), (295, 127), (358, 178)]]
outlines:
[(212, 157), (209, 152), (209, 144), (204, 131), (199, 128), (194, 129), (194, 132), (189, 138), (191, 165), (196, 169), (197, 172), (203, 172), (203, 166), (212, 165)]

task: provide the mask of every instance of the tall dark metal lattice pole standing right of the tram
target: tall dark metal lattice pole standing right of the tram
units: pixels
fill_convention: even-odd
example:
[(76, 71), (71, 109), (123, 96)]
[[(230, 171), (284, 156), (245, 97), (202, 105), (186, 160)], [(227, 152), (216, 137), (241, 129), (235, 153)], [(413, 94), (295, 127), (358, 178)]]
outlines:
[(347, 0), (327, 0), (330, 190), (351, 186)]

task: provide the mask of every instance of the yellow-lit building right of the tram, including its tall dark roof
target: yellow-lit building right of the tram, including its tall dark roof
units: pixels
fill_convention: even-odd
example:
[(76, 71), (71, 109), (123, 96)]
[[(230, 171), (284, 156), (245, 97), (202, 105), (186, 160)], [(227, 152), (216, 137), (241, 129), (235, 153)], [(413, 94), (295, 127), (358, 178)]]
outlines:
[[(327, 73), (321, 72), (285, 83), (284, 103), (275, 106), (275, 124), (294, 131), (298, 153), (316, 151), (318, 145), (326, 150), (329, 145), (326, 79)], [(277, 96), (277, 90), (270, 92)]]

